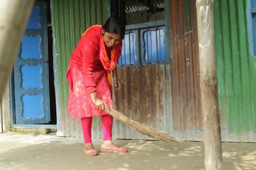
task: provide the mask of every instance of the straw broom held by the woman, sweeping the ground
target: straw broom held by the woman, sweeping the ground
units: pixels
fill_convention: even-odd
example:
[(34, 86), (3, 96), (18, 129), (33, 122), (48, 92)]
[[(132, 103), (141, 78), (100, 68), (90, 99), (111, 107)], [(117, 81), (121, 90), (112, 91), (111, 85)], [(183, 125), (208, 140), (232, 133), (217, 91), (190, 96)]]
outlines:
[(183, 142), (173, 136), (170, 136), (169, 134), (167, 134), (164, 131), (160, 131), (160, 130), (157, 130), (156, 128), (151, 128), (151, 127), (142, 125), (138, 122), (135, 122), (135, 121), (127, 118), (126, 116), (124, 116), (123, 114), (121, 114), (120, 112), (118, 112), (116, 110), (110, 109), (110, 111), (108, 111), (107, 109), (105, 109), (105, 111), (108, 112), (111, 116), (118, 119), (119, 121), (130, 126), (134, 130), (136, 130), (142, 134), (148, 135), (149, 137), (152, 137), (156, 140), (169, 141), (169, 142)]

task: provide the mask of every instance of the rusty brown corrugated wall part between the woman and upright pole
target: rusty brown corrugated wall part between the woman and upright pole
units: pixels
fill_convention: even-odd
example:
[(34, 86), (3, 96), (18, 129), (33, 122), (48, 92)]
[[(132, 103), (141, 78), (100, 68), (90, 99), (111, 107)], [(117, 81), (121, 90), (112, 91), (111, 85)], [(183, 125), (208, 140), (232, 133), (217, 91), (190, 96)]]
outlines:
[[(202, 140), (195, 2), (169, 1), (172, 64), (118, 68), (123, 87), (113, 99), (129, 118), (187, 140)], [(119, 122), (114, 134), (148, 139)]]

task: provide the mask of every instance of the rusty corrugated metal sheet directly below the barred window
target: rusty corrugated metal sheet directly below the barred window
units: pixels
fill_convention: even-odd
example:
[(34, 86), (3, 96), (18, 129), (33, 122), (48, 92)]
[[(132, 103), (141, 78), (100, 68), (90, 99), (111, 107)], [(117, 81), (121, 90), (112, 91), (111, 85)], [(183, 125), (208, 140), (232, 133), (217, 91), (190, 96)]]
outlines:
[[(171, 88), (166, 71), (169, 64), (129, 66), (117, 68), (121, 80), (120, 91), (113, 92), (115, 109), (130, 119), (144, 125), (168, 131), (166, 115), (171, 114), (168, 93)], [(167, 82), (169, 81), (169, 83)], [(150, 139), (114, 120), (114, 137)]]

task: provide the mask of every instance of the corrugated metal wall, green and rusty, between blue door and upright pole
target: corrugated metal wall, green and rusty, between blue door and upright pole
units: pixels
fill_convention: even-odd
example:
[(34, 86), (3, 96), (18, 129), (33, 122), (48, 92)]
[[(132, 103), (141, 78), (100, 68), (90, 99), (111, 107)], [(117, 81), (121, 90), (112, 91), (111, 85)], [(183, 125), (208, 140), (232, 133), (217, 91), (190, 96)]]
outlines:
[[(80, 121), (72, 120), (67, 114), (66, 69), (81, 34), (90, 25), (102, 24), (106, 20), (108, 1), (53, 0), (51, 5), (56, 49), (55, 86), (59, 89), (56, 92), (58, 135), (82, 136)], [(170, 48), (173, 65), (118, 68), (123, 87), (113, 100), (118, 111), (135, 121), (167, 131), (180, 139), (200, 140), (202, 123), (201, 102), (198, 101), (200, 88), (195, 0), (169, 1), (169, 6), (171, 26), (166, 27), (172, 29)], [(101, 137), (101, 129), (96, 128), (101, 127), (101, 121), (94, 119), (93, 136)], [(147, 139), (117, 121), (114, 122), (113, 137)]]

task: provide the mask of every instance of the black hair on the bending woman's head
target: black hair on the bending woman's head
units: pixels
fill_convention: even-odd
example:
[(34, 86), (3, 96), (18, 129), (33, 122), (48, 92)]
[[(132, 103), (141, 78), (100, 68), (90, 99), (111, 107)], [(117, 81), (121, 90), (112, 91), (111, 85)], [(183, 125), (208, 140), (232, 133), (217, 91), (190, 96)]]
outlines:
[(110, 34), (117, 34), (120, 39), (124, 39), (125, 25), (123, 20), (117, 16), (109, 17), (102, 29)]

